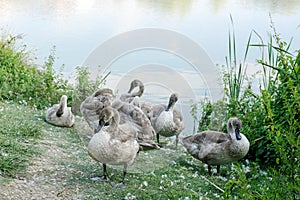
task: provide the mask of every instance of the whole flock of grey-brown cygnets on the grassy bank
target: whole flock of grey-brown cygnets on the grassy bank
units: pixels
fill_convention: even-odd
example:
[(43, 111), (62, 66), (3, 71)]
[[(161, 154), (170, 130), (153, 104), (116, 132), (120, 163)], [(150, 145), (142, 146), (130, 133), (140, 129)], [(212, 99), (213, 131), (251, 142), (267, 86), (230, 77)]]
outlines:
[[(141, 99), (143, 92), (143, 83), (133, 80), (129, 91), (119, 99), (114, 100), (111, 89), (101, 88), (81, 103), (82, 116), (94, 133), (88, 153), (103, 165), (101, 181), (108, 179), (107, 164), (123, 165), (123, 179), (118, 187), (125, 187), (128, 165), (139, 151), (160, 149), (160, 135), (176, 136), (176, 148), (180, 141), (193, 157), (208, 164), (209, 175), (211, 165), (217, 165), (219, 173), (221, 164), (237, 161), (248, 153), (250, 144), (240, 133), (240, 119), (228, 120), (228, 134), (203, 131), (179, 137), (184, 123), (182, 113), (175, 107), (178, 94), (171, 94), (168, 104), (153, 104)], [(57, 126), (73, 125), (74, 116), (67, 107), (67, 96), (63, 95), (59, 104), (46, 110), (46, 121)], [(157, 143), (153, 139), (155, 135)]]

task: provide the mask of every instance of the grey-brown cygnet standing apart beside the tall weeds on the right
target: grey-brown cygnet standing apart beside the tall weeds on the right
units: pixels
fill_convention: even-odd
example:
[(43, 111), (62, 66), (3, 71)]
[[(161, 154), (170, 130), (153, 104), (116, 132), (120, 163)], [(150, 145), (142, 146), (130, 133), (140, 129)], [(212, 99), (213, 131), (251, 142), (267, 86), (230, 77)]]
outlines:
[(220, 165), (240, 160), (248, 153), (250, 143), (240, 133), (241, 127), (240, 119), (230, 118), (227, 123), (228, 134), (203, 131), (181, 137), (180, 141), (194, 158), (208, 165), (208, 173), (211, 175), (211, 165), (217, 165), (219, 173)]

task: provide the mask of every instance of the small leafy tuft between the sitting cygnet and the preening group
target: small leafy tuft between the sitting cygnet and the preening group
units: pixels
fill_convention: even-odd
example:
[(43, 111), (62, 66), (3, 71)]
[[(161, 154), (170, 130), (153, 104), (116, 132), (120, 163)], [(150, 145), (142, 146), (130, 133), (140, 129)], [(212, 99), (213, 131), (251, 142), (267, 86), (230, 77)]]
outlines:
[(110, 72), (102, 76), (101, 73), (98, 72), (96, 79), (93, 81), (90, 80), (90, 72), (87, 67), (76, 67), (76, 83), (72, 96), (72, 112), (74, 114), (80, 114), (81, 102), (84, 101), (86, 97), (92, 95), (101, 86), (103, 86), (109, 74)]

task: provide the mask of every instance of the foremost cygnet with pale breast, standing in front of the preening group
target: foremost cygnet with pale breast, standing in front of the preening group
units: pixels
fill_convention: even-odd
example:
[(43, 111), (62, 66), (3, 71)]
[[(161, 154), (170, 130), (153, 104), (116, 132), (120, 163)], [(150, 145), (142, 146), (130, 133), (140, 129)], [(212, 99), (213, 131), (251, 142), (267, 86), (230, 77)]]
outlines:
[[(133, 163), (139, 144), (136, 141), (137, 132), (127, 124), (119, 125), (118, 111), (108, 106), (99, 114), (97, 133), (88, 144), (88, 153), (103, 165), (101, 180), (107, 181), (106, 165), (123, 165), (123, 179), (120, 187), (125, 187), (127, 167)], [(105, 124), (109, 124), (103, 127)]]

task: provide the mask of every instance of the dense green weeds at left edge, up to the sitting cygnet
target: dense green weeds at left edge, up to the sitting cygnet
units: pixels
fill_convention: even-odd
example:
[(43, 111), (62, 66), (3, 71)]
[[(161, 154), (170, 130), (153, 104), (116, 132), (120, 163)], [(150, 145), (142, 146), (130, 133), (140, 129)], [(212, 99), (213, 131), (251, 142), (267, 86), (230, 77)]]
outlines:
[(20, 36), (2, 37), (0, 41), (0, 99), (45, 108), (68, 94), (68, 82), (53, 71), (53, 48), (42, 69), (30, 63), (26, 45), (17, 48)]

